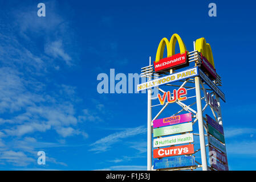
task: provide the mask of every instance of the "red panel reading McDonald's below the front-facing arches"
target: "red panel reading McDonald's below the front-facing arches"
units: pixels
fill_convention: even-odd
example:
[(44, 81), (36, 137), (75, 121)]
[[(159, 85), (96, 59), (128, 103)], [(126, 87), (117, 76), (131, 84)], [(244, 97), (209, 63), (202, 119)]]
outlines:
[(164, 69), (178, 68), (178, 67), (186, 67), (188, 61), (186, 59), (185, 53), (177, 53), (176, 55), (165, 57), (164, 59), (160, 59), (159, 62), (156, 63), (154, 61), (155, 72), (159, 72)]

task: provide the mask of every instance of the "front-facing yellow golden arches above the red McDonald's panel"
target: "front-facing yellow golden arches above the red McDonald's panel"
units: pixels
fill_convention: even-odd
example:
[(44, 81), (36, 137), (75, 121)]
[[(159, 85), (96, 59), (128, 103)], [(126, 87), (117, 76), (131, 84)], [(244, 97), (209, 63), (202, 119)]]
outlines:
[(163, 58), (165, 46), (167, 49), (167, 57), (175, 55), (175, 45), (177, 40), (178, 40), (178, 45), (180, 46), (180, 53), (182, 54), (186, 52), (186, 46), (183, 40), (180, 38), (178, 34), (173, 34), (172, 37), (170, 38), (170, 42), (168, 41), (168, 39), (163, 38), (159, 43), (159, 47), (157, 48), (157, 52), (156, 52), (155, 63), (158, 63), (160, 59)]

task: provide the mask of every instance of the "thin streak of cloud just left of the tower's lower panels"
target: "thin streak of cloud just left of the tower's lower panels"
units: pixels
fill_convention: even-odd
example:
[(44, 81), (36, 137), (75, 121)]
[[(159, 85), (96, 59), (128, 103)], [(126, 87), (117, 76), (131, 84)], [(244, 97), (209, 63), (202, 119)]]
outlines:
[(90, 151), (104, 152), (109, 150), (111, 146), (117, 142), (120, 142), (122, 139), (133, 137), (139, 134), (144, 134), (147, 132), (147, 129), (144, 126), (138, 126), (135, 128), (125, 129), (124, 131), (119, 131), (113, 134), (108, 135), (107, 137), (101, 138), (96, 142), (92, 143)]

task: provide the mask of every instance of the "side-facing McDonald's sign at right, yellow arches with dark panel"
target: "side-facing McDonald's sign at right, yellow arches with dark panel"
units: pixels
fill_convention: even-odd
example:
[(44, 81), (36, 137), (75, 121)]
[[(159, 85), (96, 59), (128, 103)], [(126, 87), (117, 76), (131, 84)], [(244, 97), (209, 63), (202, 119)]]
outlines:
[(210, 74), (210, 78), (216, 78), (217, 73), (214, 66), (212, 48), (209, 43), (206, 43), (205, 38), (196, 40), (196, 50), (201, 53), (202, 57), (202, 69)]

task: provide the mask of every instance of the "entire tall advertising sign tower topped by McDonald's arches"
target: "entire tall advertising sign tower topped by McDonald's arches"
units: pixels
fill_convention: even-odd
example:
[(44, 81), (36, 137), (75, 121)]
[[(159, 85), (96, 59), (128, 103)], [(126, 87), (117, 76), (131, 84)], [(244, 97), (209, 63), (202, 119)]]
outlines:
[[(180, 52), (175, 53), (177, 42)], [(173, 34), (170, 40), (163, 38), (157, 47), (153, 65), (150, 58), (149, 66), (141, 68), (143, 77), (149, 78), (148, 81), (137, 85), (137, 92), (148, 90), (148, 170), (152, 167), (156, 170), (198, 167), (205, 171), (228, 170), (220, 98), (224, 102), (226, 100), (224, 92), (219, 88), (222, 85), (221, 77), (216, 72), (212, 48), (205, 38), (197, 39), (193, 44), (194, 49), (189, 52), (178, 34)], [(164, 52), (167, 53), (166, 57)], [(157, 78), (154, 79), (155, 74)], [(161, 93), (151, 98), (152, 88), (155, 87)], [(204, 96), (201, 95), (202, 92)], [(202, 108), (201, 102), (204, 101), (206, 105)], [(157, 104), (152, 106), (152, 102)], [(177, 113), (174, 113), (176, 108), (166, 109), (169, 106), (177, 106), (181, 110), (177, 109)], [(152, 109), (156, 107), (161, 108), (156, 116), (152, 117)], [(206, 113), (209, 112), (206, 107), (210, 107), (213, 117)], [(168, 110), (168, 115), (159, 117), (164, 110)], [(194, 125), (196, 122), (198, 128), (193, 130), (197, 127)], [(208, 137), (208, 145), (205, 145), (205, 134)], [(198, 143), (194, 144), (196, 137), (199, 137), (199, 148)], [(209, 147), (208, 156), (206, 147)], [(200, 165), (197, 165), (200, 162), (195, 160), (197, 152), (201, 154)], [(210, 155), (210, 152), (214, 155)], [(207, 157), (216, 161), (208, 166)]]

